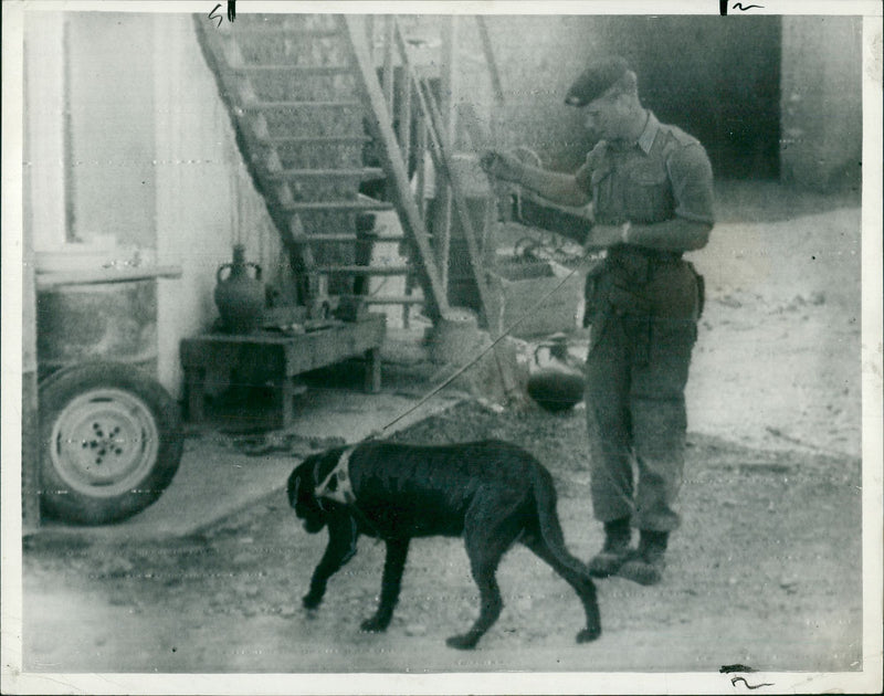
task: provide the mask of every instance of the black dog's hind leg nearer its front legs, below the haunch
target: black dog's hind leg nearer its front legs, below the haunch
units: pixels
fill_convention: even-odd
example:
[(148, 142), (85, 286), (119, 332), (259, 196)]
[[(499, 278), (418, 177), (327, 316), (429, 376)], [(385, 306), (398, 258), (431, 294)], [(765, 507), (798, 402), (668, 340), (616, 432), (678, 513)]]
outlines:
[[(519, 534), (516, 508), (519, 503), (504, 500), (476, 500), (466, 514), (464, 542), (470, 557), (470, 569), (478, 586), (482, 602), (473, 626), (461, 635), (445, 641), (450, 647), (470, 650), (494, 625), (504, 607), (495, 573), (501, 558), (513, 546)], [(493, 510), (493, 517), (487, 515)]]

